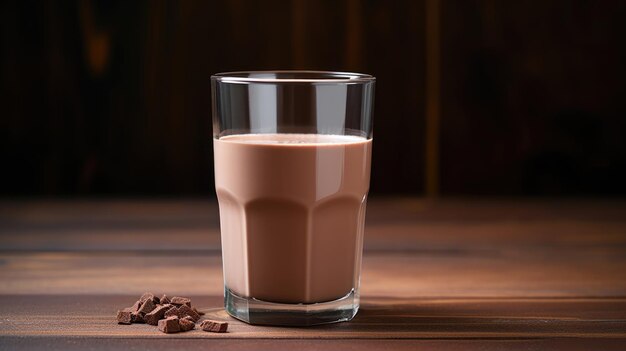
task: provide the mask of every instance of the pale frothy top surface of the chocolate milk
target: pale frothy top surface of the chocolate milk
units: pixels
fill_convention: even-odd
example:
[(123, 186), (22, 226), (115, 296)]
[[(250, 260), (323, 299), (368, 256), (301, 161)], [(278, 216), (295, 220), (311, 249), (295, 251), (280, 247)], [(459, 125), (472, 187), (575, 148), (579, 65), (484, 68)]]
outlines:
[(265, 145), (328, 145), (364, 143), (367, 139), (353, 135), (334, 134), (235, 134), (219, 138), (223, 142)]

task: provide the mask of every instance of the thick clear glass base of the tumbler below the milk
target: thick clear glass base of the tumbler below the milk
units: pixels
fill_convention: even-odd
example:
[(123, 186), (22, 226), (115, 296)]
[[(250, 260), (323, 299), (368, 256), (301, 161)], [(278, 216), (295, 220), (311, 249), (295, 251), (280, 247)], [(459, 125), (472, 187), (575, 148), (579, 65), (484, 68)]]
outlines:
[(334, 301), (283, 304), (241, 297), (225, 287), (224, 305), (228, 314), (249, 324), (296, 327), (349, 321), (359, 310), (359, 296), (351, 290)]

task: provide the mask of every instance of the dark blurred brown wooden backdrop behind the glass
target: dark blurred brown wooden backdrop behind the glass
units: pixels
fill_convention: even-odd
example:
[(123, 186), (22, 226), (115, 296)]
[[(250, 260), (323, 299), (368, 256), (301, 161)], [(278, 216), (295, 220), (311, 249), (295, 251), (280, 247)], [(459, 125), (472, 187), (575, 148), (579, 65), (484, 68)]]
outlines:
[(626, 195), (626, 1), (0, 5), (0, 194), (213, 196), (209, 77), (378, 78), (373, 195)]

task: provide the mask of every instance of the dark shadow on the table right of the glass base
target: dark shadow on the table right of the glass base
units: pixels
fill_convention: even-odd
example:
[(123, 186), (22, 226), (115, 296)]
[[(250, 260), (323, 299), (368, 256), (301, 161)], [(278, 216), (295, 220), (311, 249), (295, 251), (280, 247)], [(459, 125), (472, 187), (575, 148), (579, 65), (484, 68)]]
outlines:
[(351, 322), (317, 328), (373, 338), (623, 337), (625, 317), (622, 298), (375, 297)]

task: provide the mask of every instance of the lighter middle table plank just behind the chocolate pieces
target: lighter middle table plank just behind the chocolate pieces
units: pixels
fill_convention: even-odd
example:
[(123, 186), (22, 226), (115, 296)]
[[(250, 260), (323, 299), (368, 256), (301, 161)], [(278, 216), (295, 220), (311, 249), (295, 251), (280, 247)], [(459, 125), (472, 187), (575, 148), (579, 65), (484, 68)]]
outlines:
[[(221, 295), (221, 259), (212, 253), (4, 253), (0, 294)], [(363, 296), (626, 296), (626, 255), (589, 252), (425, 251), (366, 254)], [(181, 283), (182, 282), (182, 283)]]

